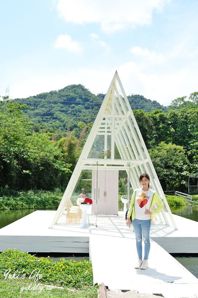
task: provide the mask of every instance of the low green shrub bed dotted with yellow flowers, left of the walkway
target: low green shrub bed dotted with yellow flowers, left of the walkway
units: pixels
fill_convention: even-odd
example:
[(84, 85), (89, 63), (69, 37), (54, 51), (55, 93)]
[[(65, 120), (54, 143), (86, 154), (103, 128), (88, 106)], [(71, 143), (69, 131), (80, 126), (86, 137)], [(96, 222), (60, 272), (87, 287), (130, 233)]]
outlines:
[[(15, 271), (18, 279), (31, 280), (32, 283), (65, 286), (70, 288), (84, 288), (93, 285), (93, 271), (91, 261), (75, 261), (61, 259), (52, 262), (48, 258), (37, 258), (18, 249), (9, 249), (0, 254), (1, 278), (9, 280), (9, 274)], [(11, 277), (11, 276), (10, 276)], [(23, 278), (22, 278), (23, 277)]]

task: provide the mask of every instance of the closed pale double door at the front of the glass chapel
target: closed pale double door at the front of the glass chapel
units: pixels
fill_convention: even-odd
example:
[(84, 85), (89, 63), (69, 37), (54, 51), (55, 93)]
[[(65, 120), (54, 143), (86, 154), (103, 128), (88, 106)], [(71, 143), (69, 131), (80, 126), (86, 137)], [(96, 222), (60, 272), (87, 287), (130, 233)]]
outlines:
[(92, 214), (118, 215), (118, 170), (92, 170)]

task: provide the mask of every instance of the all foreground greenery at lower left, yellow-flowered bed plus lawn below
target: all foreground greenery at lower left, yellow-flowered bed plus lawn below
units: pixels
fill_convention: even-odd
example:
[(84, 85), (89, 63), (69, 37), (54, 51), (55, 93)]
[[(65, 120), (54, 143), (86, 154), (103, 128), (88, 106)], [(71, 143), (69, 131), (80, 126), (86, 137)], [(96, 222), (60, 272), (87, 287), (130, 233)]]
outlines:
[(0, 285), (0, 297), (39, 298), (97, 297), (98, 287), (93, 286), (90, 260), (63, 258), (54, 263), (50, 257), (38, 258), (18, 249), (1, 252)]

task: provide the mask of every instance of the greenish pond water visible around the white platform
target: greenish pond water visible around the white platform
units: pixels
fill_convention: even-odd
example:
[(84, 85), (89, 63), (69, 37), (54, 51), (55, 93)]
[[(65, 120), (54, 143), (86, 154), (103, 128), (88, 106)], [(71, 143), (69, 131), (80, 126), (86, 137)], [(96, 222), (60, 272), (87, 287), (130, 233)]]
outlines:
[[(7, 226), (14, 221), (34, 212), (36, 210), (29, 209), (29, 210), (4, 210), (0, 211), (0, 228)], [(198, 205), (189, 205), (189, 206), (182, 206), (182, 207), (171, 207), (171, 211), (173, 214), (182, 216), (184, 218), (191, 219), (193, 221), (198, 221)], [(45, 254), (42, 254), (45, 257)], [(198, 254), (172, 254), (172, 256), (178, 260), (186, 269), (188, 269), (194, 276), (198, 278)], [(41, 255), (38, 255), (41, 257)], [(61, 258), (65, 259), (74, 259), (79, 260), (84, 257), (85, 260), (88, 259), (88, 255), (68, 255), (68, 254), (52, 254), (50, 255), (50, 259), (54, 262), (60, 260)]]

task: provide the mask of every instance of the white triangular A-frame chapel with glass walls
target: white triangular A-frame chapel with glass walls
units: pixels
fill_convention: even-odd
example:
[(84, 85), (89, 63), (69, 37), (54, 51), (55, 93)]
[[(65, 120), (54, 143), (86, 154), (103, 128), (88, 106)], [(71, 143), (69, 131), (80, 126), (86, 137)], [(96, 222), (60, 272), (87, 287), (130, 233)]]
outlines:
[(148, 173), (150, 187), (164, 202), (164, 209), (155, 216), (155, 222), (177, 229), (116, 71), (50, 228), (67, 222), (66, 199), (75, 204), (80, 193), (93, 199), (88, 211), (90, 223), (91, 217), (97, 218), (97, 215), (118, 214), (119, 171), (126, 171), (128, 198), (135, 188), (140, 187), (140, 174)]

